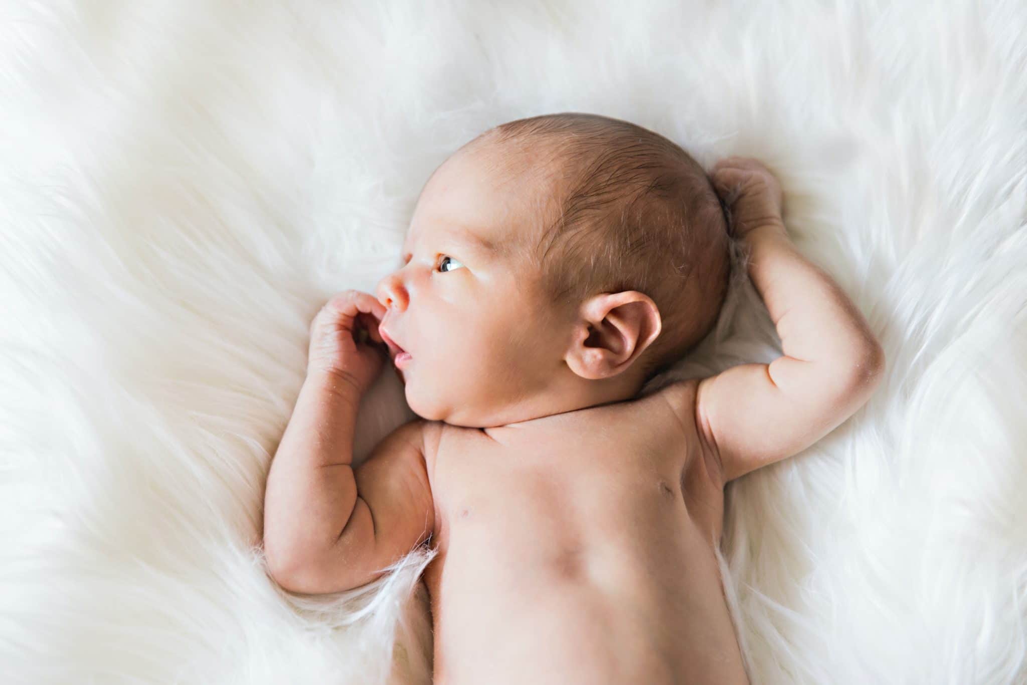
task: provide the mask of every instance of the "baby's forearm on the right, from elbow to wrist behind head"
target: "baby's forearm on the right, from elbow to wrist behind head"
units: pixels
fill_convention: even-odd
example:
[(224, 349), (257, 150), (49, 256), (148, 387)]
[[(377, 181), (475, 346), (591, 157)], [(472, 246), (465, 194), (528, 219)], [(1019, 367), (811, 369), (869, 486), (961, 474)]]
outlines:
[(769, 371), (783, 390), (835, 380), (859, 386), (879, 371), (880, 346), (859, 309), (795, 249), (782, 226), (757, 228), (746, 240), (752, 251), (749, 274), (786, 355)]

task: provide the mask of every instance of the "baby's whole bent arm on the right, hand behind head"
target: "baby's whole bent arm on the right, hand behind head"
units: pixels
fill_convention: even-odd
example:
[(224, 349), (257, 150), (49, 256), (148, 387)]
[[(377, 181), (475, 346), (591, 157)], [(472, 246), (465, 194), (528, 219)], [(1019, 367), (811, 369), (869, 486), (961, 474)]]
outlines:
[(749, 274), (785, 352), (698, 384), (696, 424), (727, 482), (805, 449), (852, 415), (880, 381), (884, 354), (845, 294), (793, 245), (773, 176), (729, 157), (711, 179), (751, 249)]

